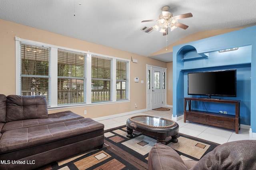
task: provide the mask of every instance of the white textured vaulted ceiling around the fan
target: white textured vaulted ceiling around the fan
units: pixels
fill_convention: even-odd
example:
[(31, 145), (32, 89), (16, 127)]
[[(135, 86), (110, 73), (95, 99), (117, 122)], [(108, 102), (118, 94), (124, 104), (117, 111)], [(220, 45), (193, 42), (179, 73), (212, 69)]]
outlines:
[(156, 22), (141, 21), (158, 19), (163, 6), (174, 16), (193, 14), (179, 20), (188, 29), (169, 31), (167, 45), (198, 31), (256, 25), (256, 0), (0, 0), (0, 19), (149, 56), (166, 47), (166, 36), (144, 33)]

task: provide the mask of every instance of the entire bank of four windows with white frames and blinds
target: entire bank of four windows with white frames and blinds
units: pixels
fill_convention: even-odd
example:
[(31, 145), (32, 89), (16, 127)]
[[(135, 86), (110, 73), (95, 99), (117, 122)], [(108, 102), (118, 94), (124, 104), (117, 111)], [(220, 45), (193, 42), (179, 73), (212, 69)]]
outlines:
[(16, 94), (46, 96), (52, 108), (129, 101), (129, 60), (15, 39)]

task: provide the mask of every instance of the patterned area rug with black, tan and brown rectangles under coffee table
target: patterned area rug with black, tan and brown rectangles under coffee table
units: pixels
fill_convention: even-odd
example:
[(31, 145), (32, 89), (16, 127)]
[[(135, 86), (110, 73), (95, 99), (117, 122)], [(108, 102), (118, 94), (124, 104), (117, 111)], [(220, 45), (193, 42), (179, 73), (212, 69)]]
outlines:
[[(126, 126), (105, 131), (102, 149), (90, 150), (66, 160), (53, 162), (40, 170), (146, 170), (148, 152), (156, 143), (156, 138), (133, 132), (134, 137), (126, 137)], [(178, 143), (166, 138), (166, 145), (180, 154), (183, 160), (200, 160), (202, 156), (219, 144), (179, 133)]]

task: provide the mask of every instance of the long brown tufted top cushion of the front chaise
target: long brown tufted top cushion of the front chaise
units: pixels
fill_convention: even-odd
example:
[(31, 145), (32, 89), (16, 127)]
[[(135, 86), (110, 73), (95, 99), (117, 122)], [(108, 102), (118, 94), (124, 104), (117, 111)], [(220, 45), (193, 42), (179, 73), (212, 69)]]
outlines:
[(101, 129), (104, 131), (104, 124), (90, 118), (14, 129), (2, 134), (0, 153), (51, 143)]

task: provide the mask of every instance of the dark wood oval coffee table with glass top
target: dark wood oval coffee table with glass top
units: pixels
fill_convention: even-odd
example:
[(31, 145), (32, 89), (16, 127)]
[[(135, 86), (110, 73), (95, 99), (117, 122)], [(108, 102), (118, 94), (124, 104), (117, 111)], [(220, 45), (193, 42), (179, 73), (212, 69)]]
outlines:
[(157, 143), (165, 144), (165, 139), (169, 136), (172, 137), (172, 142), (178, 142), (179, 125), (171, 119), (151, 115), (133, 116), (126, 121), (126, 136), (133, 137), (133, 130), (156, 137)]

